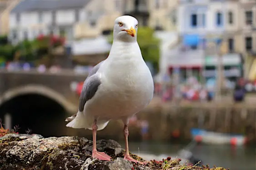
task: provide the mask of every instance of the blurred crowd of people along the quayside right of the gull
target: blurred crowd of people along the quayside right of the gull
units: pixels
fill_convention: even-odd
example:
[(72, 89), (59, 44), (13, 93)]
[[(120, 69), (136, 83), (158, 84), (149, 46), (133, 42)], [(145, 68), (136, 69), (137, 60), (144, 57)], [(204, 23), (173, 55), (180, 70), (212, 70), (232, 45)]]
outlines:
[[(210, 78), (206, 83), (201, 83), (195, 77), (187, 78), (185, 82), (175, 85), (171, 83), (156, 83), (155, 95), (162, 98), (163, 102), (171, 101), (177, 97), (184, 101), (211, 101), (216, 93), (216, 79)], [(244, 99), (246, 90), (245, 82), (239, 79), (236, 82), (231, 82), (225, 79), (225, 89), (231, 94), (235, 101)]]

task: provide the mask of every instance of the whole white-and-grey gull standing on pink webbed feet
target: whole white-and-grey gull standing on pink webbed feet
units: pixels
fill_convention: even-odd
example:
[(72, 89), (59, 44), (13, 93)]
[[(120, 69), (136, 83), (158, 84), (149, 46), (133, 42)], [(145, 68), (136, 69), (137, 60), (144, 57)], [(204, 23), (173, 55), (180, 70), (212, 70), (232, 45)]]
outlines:
[(124, 159), (138, 162), (129, 154), (128, 123), (151, 102), (154, 83), (137, 43), (137, 29), (138, 20), (132, 16), (115, 19), (109, 56), (92, 68), (80, 94), (79, 111), (66, 118), (67, 127), (92, 130), (92, 157), (99, 160), (111, 157), (97, 151), (96, 132), (112, 119), (124, 123)]

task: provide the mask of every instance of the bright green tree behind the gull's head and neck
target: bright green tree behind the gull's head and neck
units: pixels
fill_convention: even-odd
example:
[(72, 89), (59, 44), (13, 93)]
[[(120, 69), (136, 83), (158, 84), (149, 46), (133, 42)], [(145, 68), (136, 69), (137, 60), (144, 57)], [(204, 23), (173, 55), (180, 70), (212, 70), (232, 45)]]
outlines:
[[(154, 36), (154, 29), (149, 27), (139, 27), (137, 41), (141, 48), (141, 54), (144, 60), (151, 62), (156, 71), (158, 71), (160, 39)], [(113, 43), (113, 33), (109, 37), (109, 42), (111, 44)]]

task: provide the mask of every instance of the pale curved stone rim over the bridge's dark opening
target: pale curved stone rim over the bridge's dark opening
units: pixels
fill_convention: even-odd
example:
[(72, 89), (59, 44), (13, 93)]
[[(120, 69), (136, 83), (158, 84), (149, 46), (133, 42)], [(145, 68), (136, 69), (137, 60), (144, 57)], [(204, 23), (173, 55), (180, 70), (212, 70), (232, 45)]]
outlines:
[(38, 94), (44, 97), (48, 97), (55, 102), (59, 103), (61, 107), (65, 109), (66, 112), (74, 112), (75, 106), (68, 102), (63, 95), (56, 92), (55, 90), (45, 87), (42, 85), (30, 84), (21, 87), (11, 88), (8, 91), (4, 92), (4, 94), (0, 97), (0, 106), (4, 102), (11, 100), (14, 97), (20, 95), (27, 95), (27, 94)]

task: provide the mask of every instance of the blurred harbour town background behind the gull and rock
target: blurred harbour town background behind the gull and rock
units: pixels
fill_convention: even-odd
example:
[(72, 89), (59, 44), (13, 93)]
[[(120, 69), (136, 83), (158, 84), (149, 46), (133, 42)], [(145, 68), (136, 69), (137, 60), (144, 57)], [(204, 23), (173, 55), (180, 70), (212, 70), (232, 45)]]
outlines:
[[(131, 151), (256, 170), (256, 0), (0, 0), (3, 126), (91, 139), (65, 117), (108, 57), (120, 15), (138, 19), (155, 81), (152, 102), (131, 118)], [(98, 139), (124, 146), (123, 124), (111, 121)]]

